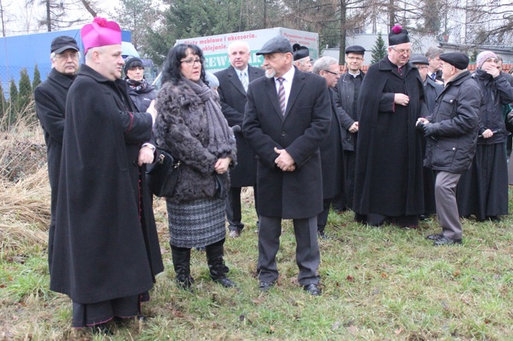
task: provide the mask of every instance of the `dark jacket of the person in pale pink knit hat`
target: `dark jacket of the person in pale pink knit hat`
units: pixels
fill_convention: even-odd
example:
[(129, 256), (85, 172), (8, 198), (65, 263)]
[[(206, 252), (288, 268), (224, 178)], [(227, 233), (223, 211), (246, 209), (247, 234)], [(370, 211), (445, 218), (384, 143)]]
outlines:
[(479, 135), (486, 129), (495, 131), (488, 139), (478, 138), (477, 144), (500, 144), (506, 139), (505, 122), (502, 116), (502, 105), (513, 102), (513, 87), (499, 74), (492, 78), (491, 74), (478, 69), (472, 74), (483, 94), (479, 108)]

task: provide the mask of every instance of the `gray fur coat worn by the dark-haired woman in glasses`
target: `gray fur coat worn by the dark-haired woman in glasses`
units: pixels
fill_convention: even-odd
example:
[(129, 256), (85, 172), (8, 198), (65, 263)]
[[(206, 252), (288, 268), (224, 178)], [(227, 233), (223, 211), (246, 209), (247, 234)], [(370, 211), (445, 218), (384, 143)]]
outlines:
[(223, 197), (230, 188), (228, 173), (216, 174), (214, 165), (227, 156), (232, 159), (231, 167), (235, 165), (235, 141), (229, 154), (215, 155), (207, 150), (209, 127), (205, 104), (183, 81), (176, 85), (164, 84), (156, 107), (159, 113), (154, 126), (157, 144), (182, 161), (178, 185), (170, 200), (180, 203)]

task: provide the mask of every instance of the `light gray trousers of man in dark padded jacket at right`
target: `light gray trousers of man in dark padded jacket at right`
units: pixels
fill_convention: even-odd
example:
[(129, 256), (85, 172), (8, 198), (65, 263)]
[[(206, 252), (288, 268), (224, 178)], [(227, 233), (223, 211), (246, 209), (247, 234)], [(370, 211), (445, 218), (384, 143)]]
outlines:
[(456, 186), (461, 174), (439, 171), (436, 173), (434, 197), (436, 200), (436, 215), (442, 226), (443, 235), (452, 239), (462, 238), (460, 215), (456, 203)]

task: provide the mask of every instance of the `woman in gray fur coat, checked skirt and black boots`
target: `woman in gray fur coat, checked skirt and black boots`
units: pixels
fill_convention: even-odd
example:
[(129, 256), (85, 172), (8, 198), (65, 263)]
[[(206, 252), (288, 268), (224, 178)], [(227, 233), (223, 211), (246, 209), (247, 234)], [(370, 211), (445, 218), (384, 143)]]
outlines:
[(218, 95), (205, 82), (203, 53), (193, 44), (170, 49), (162, 71), (155, 121), (157, 143), (181, 160), (179, 180), (166, 198), (176, 282), (192, 290), (190, 251), (206, 245), (210, 276), (222, 286), (226, 277), (224, 198), (228, 168), (235, 165), (235, 137), (221, 112)]

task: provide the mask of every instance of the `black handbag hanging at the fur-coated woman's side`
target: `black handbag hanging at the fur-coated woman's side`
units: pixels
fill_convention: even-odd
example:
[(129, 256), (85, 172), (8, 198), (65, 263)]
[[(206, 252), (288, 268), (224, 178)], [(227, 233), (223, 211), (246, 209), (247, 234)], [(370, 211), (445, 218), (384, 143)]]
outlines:
[(157, 197), (172, 197), (178, 183), (178, 172), (182, 162), (170, 152), (157, 147), (157, 161), (146, 165), (146, 178), (151, 193)]

